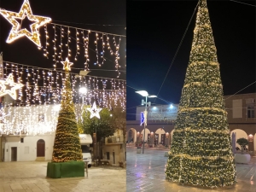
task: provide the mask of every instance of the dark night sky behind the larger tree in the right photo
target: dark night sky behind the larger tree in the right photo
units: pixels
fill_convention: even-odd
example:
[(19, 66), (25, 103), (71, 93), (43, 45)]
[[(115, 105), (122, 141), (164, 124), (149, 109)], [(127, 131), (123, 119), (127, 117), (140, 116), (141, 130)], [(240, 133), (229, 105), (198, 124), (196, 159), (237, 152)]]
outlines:
[[(255, 1), (240, 1), (255, 5)], [(135, 119), (143, 96), (157, 95), (198, 1), (131, 1), (127, 3), (127, 119)], [(255, 10), (231, 1), (207, 1), (217, 47), (224, 95), (255, 81)], [(183, 39), (159, 97), (178, 103), (189, 63), (195, 16)], [(129, 87), (131, 86), (131, 87)], [(240, 93), (255, 92), (255, 84)], [(149, 100), (154, 102), (154, 98)], [(156, 104), (167, 104), (156, 99)], [(130, 108), (130, 109), (129, 109)]]

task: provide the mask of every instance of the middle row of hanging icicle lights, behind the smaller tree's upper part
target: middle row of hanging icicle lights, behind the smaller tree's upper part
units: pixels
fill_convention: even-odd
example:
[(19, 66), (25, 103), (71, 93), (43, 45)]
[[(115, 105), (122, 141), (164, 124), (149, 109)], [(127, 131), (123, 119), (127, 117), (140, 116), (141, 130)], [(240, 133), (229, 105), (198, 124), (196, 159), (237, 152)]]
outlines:
[[(64, 73), (41, 67), (26, 66), (17, 63), (3, 63), (4, 79), (12, 74), (16, 82), (24, 84), (18, 92), (16, 105), (54, 104), (61, 101), (61, 88)], [(92, 105), (97, 102), (102, 108), (126, 106), (126, 81), (122, 79), (108, 79), (95, 76), (79, 76), (70, 73), (73, 99), (82, 102), (79, 88), (86, 87), (88, 92), (84, 96), (84, 104)], [(5, 105), (12, 104), (5, 103)]]

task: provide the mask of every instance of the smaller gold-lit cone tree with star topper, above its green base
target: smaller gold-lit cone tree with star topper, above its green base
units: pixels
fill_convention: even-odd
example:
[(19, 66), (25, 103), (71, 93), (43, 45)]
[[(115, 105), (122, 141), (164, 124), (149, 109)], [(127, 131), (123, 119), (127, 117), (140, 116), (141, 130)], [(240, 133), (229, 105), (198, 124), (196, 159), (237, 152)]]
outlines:
[(52, 162), (82, 161), (79, 128), (74, 112), (72, 88), (69, 79), (70, 62), (63, 62), (65, 85), (61, 94), (61, 110), (55, 134)]

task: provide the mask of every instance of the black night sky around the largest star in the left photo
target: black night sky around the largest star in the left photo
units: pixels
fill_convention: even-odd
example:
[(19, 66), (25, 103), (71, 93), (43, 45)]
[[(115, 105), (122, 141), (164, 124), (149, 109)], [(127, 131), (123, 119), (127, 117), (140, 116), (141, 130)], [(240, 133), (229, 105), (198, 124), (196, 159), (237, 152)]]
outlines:
[[(53, 23), (74, 26), (83, 29), (90, 29), (100, 32), (111, 32), (115, 34), (125, 35), (126, 26), (126, 5), (125, 0), (112, 0), (112, 1), (100, 1), (100, 0), (73, 0), (71, 2), (65, 2), (60, 0), (30, 0), (33, 15), (42, 15), (50, 17)], [(0, 0), (0, 8), (13, 12), (19, 12), (23, 0)], [(26, 24), (24, 24), (26, 27)], [(112, 25), (112, 26), (104, 26)], [(27, 25), (28, 26), (28, 25)], [(37, 46), (33, 44), (28, 38), (23, 37), (17, 39), (12, 44), (7, 44), (5, 41), (9, 36), (11, 25), (8, 20), (0, 15), (0, 52), (3, 52), (3, 60), (17, 62), (20, 64), (26, 64), (37, 67), (53, 67), (53, 61), (51, 61), (52, 50), (49, 51), (49, 59), (44, 57), (44, 52), (38, 50)], [(52, 26), (49, 25), (49, 28)], [(23, 28), (23, 26), (22, 26)], [(44, 27), (40, 28), (41, 41), (44, 45)], [(52, 36), (53, 33), (49, 32)], [(75, 37), (75, 33), (72, 34)], [(92, 44), (91, 49), (95, 49), (93, 39), (90, 38)], [(120, 61), (121, 69), (125, 71), (125, 38), (122, 39), (120, 45), (120, 55), (122, 60)], [(75, 44), (73, 44), (75, 46)], [(52, 46), (51, 46), (52, 48)], [(72, 49), (74, 52), (75, 49)], [(96, 54), (90, 50), (90, 55), (96, 58)], [(83, 55), (82, 55), (83, 57)], [(91, 59), (90, 69), (108, 69), (114, 70), (114, 59), (110, 55), (106, 55), (107, 61), (104, 67), (94, 66), (94, 59)], [(70, 61), (73, 61), (70, 59)], [(57, 64), (57, 67), (61, 69), (61, 63)], [(74, 62), (73, 67), (84, 67), (84, 61)], [(79, 71), (73, 70), (72, 72), (78, 73)], [(107, 78), (116, 78), (117, 73), (106, 71), (93, 71), (89, 75), (95, 75)], [(121, 73), (120, 79), (125, 79), (125, 73)]]

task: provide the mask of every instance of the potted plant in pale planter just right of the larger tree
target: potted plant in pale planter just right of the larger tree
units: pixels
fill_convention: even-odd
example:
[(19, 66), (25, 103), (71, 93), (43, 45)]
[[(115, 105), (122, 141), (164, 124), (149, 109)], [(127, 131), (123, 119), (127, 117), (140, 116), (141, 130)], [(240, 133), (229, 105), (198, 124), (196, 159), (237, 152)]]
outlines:
[(235, 154), (236, 163), (245, 163), (247, 164), (251, 160), (251, 155), (244, 153), (244, 148), (248, 145), (248, 140), (246, 138), (237, 139), (236, 143), (241, 146), (241, 154)]

